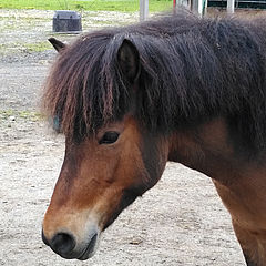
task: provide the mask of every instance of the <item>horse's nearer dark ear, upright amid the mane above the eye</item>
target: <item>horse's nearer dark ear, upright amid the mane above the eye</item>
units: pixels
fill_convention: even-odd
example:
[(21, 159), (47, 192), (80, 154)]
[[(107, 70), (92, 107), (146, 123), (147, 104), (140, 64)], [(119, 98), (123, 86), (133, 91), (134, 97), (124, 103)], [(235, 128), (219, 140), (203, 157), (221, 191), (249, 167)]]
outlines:
[(117, 53), (119, 65), (130, 82), (135, 82), (139, 79), (140, 54), (136, 47), (129, 40), (124, 40)]

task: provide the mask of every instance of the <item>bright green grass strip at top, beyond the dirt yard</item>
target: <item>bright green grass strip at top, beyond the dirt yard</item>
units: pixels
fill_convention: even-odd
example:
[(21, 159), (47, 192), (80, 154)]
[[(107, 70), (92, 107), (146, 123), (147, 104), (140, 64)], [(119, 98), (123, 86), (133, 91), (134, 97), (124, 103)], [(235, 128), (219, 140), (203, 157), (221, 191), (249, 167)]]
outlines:
[[(172, 0), (150, 0), (149, 10), (170, 9)], [(91, 10), (91, 11), (137, 11), (139, 0), (0, 0), (4, 9), (42, 9), (42, 10)]]

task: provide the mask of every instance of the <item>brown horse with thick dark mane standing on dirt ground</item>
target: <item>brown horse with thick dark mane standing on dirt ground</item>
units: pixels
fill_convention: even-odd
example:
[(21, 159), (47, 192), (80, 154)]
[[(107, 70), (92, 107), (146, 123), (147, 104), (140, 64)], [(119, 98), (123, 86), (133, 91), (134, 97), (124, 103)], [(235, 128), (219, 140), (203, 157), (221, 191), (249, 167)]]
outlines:
[(43, 102), (65, 157), (42, 237), (88, 259), (167, 161), (212, 177), (247, 265), (266, 265), (266, 23), (182, 10), (59, 51)]

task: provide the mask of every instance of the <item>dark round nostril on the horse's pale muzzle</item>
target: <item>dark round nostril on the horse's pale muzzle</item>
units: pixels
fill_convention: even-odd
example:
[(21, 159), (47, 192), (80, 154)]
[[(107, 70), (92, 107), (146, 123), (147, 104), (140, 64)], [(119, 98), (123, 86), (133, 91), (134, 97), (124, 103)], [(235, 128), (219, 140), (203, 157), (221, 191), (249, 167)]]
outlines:
[(50, 243), (51, 248), (61, 256), (68, 256), (75, 247), (75, 239), (66, 233), (58, 233)]

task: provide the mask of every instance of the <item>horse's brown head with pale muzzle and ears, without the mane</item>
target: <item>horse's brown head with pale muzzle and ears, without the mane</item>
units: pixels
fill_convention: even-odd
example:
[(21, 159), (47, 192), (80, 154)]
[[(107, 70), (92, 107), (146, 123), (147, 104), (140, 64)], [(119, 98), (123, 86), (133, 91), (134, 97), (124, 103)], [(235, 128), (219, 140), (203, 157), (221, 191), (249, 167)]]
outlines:
[[(53, 43), (58, 51), (65, 49)], [(101, 233), (158, 181), (167, 161), (164, 139), (135, 117), (141, 66), (129, 40), (117, 50), (117, 64), (132, 90), (129, 112), (81, 141), (65, 136), (64, 161), (42, 231), (43, 242), (64, 258), (93, 256)]]

